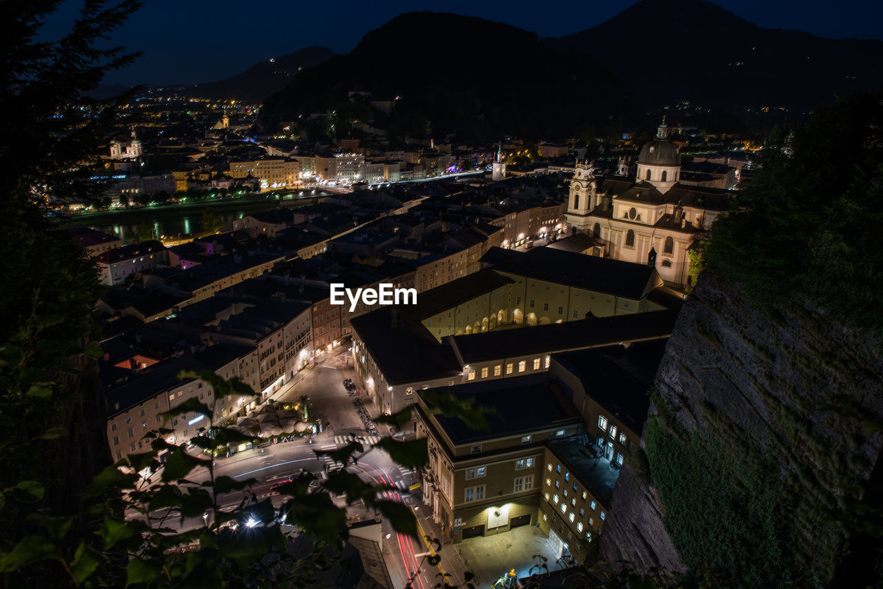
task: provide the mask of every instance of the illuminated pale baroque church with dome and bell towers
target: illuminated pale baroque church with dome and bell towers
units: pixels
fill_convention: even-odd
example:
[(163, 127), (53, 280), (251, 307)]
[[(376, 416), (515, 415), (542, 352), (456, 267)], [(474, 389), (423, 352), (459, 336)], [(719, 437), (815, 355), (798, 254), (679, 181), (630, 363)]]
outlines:
[(653, 265), (663, 281), (683, 289), (691, 279), (688, 250), (736, 193), (679, 182), (681, 154), (664, 119), (656, 137), (641, 148), (637, 177), (628, 174), (624, 160), (606, 177), (596, 177), (592, 164), (577, 162), (568, 227), (594, 239), (593, 254)]

